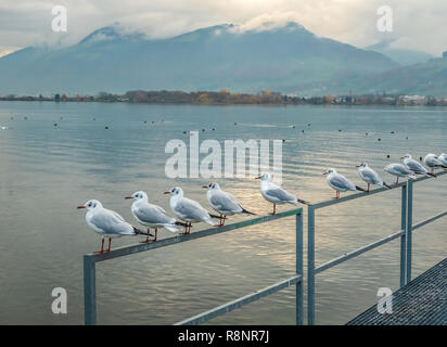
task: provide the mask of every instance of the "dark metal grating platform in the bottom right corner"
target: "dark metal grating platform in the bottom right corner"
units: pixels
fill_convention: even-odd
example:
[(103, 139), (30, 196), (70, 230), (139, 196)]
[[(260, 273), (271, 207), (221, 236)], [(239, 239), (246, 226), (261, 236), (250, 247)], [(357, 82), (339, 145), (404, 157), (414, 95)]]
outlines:
[(347, 325), (447, 325), (447, 258), (393, 294), (393, 313), (376, 305)]

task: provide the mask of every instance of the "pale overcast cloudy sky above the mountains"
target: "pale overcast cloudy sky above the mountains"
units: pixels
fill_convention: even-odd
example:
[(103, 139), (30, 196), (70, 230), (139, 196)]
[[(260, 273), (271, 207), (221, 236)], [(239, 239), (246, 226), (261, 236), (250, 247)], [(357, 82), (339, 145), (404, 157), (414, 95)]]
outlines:
[[(67, 33), (51, 30), (58, 4), (67, 8)], [(393, 9), (393, 33), (376, 29), (381, 5)], [(116, 22), (167, 37), (224, 23), (253, 28), (266, 21), (294, 21), (357, 47), (393, 38), (398, 48), (434, 55), (447, 50), (446, 0), (0, 0), (0, 56), (33, 44), (73, 44)]]

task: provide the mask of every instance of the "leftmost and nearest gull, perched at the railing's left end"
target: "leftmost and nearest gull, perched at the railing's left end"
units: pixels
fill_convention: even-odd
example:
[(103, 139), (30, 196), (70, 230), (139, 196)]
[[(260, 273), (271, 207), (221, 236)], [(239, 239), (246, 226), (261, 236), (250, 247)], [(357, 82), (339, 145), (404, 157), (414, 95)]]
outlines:
[[(87, 208), (86, 220), (87, 224), (102, 236), (101, 250), (94, 252), (104, 253), (111, 252), (112, 239), (120, 237), (123, 235), (146, 235), (153, 236), (150, 233), (145, 233), (137, 228), (130, 226), (122, 216), (117, 213), (102, 207), (102, 204), (98, 200), (90, 200), (86, 204), (78, 206), (79, 208)], [(108, 239), (108, 249), (104, 250), (104, 237)]]

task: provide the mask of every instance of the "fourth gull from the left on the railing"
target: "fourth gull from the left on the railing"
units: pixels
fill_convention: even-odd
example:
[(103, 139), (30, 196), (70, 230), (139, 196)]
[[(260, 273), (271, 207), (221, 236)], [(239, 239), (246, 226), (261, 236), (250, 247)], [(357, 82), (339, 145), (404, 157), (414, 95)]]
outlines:
[(239, 205), (233, 195), (222, 191), (219, 183), (212, 182), (208, 185), (202, 185), (202, 188), (206, 188), (208, 190), (206, 192), (208, 203), (212, 205), (214, 210), (220, 214), (219, 227), (225, 224), (225, 219), (227, 216), (232, 216), (234, 214), (241, 214), (244, 216), (254, 215)]

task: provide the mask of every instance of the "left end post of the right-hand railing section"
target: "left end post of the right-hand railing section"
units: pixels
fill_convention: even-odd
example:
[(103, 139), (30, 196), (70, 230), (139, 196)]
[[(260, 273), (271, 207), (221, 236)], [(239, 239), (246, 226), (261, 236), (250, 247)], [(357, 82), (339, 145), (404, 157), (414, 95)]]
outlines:
[(315, 208), (307, 207), (307, 324), (315, 323)]

